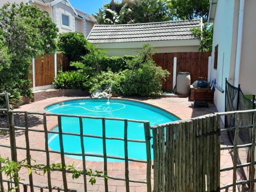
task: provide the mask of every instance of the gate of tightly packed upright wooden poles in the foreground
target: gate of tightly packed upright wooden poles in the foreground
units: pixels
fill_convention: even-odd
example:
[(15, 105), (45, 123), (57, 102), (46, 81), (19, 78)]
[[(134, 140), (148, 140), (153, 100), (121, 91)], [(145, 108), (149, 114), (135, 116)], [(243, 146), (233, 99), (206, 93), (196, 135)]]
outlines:
[(152, 126), (154, 191), (218, 191), (217, 115)]

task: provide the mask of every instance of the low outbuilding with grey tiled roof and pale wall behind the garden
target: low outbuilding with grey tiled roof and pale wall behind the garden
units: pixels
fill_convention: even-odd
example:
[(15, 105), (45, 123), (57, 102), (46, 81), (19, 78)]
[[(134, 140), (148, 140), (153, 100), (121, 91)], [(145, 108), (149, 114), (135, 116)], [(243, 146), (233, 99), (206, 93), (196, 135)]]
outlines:
[(95, 25), (88, 40), (109, 56), (137, 55), (145, 44), (155, 47), (159, 53), (197, 52), (200, 39), (191, 32), (202, 29), (202, 20), (170, 22)]

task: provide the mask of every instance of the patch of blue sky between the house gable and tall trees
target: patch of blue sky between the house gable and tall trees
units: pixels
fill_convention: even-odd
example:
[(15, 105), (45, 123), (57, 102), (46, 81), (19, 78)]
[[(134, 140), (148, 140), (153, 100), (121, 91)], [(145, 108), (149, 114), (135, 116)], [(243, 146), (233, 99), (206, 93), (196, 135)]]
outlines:
[(98, 12), (104, 4), (110, 3), (110, 0), (70, 0), (72, 6), (91, 15)]

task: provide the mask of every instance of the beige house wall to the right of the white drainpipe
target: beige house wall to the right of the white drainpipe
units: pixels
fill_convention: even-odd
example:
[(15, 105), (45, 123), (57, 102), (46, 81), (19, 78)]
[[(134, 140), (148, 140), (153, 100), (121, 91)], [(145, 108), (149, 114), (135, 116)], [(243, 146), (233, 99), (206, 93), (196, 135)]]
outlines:
[(256, 94), (256, 1), (245, 1), (239, 83), (245, 94)]

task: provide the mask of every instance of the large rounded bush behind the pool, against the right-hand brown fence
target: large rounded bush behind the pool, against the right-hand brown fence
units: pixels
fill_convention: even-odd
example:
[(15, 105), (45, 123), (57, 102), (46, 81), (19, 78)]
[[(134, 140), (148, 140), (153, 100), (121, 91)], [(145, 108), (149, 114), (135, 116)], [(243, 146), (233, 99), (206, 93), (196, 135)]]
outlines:
[(127, 65), (130, 70), (124, 72), (121, 91), (127, 96), (152, 96), (160, 94), (162, 82), (168, 76), (168, 71), (156, 66), (152, 58), (155, 50), (150, 45), (144, 45), (140, 54)]

